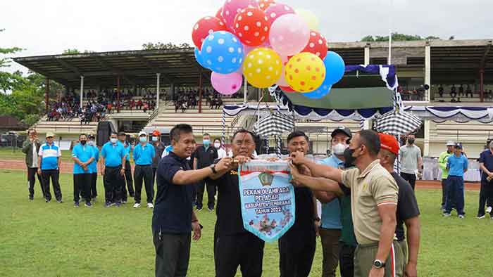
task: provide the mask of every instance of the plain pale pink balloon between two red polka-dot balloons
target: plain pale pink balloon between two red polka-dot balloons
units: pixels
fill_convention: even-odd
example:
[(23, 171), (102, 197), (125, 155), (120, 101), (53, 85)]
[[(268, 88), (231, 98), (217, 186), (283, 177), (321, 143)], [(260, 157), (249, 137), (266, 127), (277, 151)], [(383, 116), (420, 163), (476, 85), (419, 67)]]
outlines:
[(269, 42), (281, 56), (294, 56), (310, 39), (310, 28), (297, 14), (282, 15), (270, 27)]

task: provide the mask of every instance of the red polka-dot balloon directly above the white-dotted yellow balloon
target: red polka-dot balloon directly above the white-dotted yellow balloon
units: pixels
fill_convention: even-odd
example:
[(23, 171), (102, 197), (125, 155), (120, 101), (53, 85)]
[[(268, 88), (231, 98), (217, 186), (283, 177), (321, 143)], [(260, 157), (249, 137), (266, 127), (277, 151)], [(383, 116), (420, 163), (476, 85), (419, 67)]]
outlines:
[(260, 8), (244, 8), (235, 17), (233, 32), (247, 46), (259, 46), (266, 42), (270, 24)]

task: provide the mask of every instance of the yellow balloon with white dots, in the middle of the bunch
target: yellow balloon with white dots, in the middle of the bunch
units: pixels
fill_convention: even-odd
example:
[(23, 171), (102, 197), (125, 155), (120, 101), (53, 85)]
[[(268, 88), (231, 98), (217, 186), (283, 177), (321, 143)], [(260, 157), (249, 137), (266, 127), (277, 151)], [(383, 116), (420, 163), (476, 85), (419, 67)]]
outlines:
[(252, 86), (265, 89), (281, 77), (281, 57), (264, 47), (252, 50), (243, 61), (243, 75)]

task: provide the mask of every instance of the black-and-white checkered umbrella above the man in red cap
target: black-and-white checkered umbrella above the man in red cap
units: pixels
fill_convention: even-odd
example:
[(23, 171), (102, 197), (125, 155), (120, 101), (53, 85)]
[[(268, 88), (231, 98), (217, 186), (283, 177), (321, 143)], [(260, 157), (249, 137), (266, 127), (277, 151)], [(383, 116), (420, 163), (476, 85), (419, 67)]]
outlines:
[(392, 110), (378, 118), (375, 127), (381, 133), (398, 136), (416, 131), (421, 124), (420, 118), (411, 112)]

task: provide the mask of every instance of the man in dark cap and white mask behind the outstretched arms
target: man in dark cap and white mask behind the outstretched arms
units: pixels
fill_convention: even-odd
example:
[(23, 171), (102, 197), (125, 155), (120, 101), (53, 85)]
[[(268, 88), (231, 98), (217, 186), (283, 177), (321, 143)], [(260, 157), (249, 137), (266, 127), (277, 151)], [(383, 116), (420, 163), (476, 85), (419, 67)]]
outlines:
[[(332, 155), (320, 161), (322, 165), (340, 168), (344, 165), (344, 150), (351, 139), (351, 130), (338, 127), (331, 134), (330, 145)], [(323, 247), (323, 277), (335, 277), (335, 269), (339, 262), (339, 238), (341, 237), (341, 209), (339, 199), (334, 193), (314, 191), (316, 198), (322, 202), (322, 222), (320, 224), (320, 238)], [(347, 247), (352, 247), (348, 245)], [(352, 263), (352, 261), (350, 261)]]

